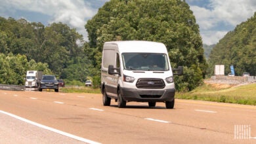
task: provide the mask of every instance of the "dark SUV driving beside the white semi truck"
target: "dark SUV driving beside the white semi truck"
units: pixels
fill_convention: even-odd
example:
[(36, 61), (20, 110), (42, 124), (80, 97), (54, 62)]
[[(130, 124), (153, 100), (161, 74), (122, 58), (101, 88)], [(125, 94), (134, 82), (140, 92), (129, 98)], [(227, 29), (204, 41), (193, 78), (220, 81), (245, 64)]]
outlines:
[(58, 81), (54, 75), (43, 75), (38, 90), (42, 92), (43, 89), (54, 89), (58, 92)]

